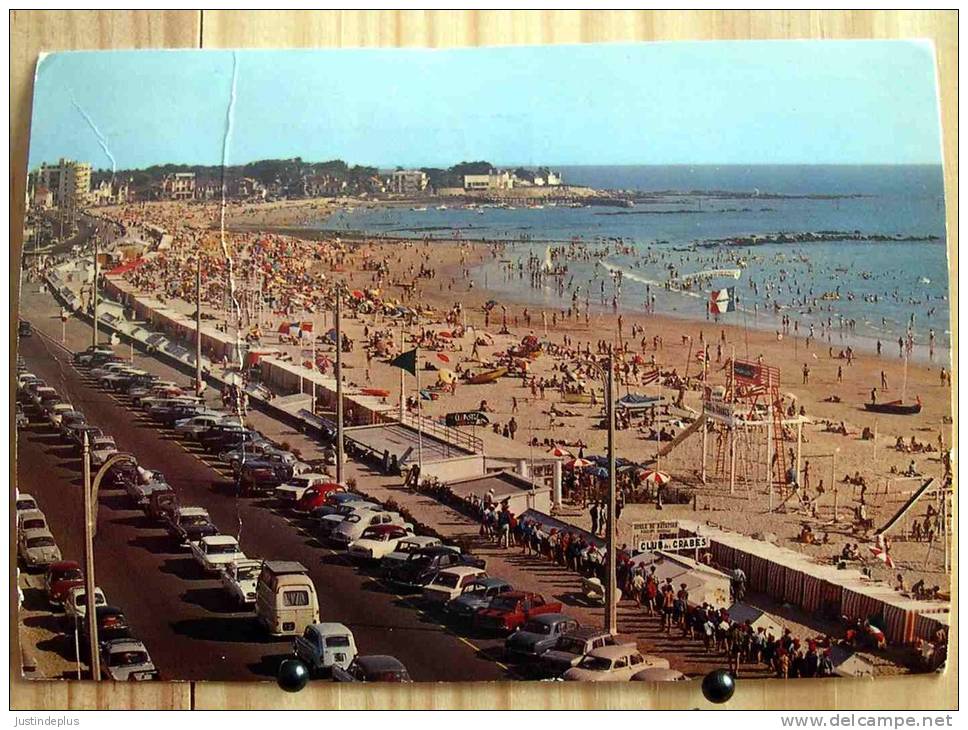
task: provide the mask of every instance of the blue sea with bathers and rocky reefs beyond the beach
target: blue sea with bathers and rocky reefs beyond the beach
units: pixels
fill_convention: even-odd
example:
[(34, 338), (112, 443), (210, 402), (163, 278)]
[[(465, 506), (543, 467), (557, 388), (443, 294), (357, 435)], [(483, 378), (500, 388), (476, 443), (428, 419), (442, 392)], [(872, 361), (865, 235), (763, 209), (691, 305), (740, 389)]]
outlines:
[[(566, 308), (577, 287), (592, 308), (654, 311), (707, 319), (712, 290), (732, 287), (739, 306), (719, 321), (779, 330), (786, 316), (801, 335), (813, 324), (833, 346), (887, 352), (910, 333), (914, 356), (949, 357), (949, 289), (943, 172), (898, 166), (575, 166), (567, 184), (635, 192), (634, 207), (514, 208), (424, 206), (339, 210), (316, 223), (331, 231), (420, 239), (505, 241), (499, 259), (470, 272), (495, 299)], [(726, 246), (717, 239), (825, 232), (819, 242)], [(833, 237), (831, 236), (833, 232)], [(931, 240), (850, 240), (918, 238)], [(582, 241), (607, 255), (568, 260), (569, 288), (530, 281), (530, 258)], [(621, 245), (616, 245), (620, 242)], [(705, 245), (704, 245), (705, 244)], [(502, 261), (503, 260), (503, 261)], [(701, 288), (666, 285), (711, 269), (739, 278), (704, 278)], [(621, 272), (620, 284), (616, 277)], [(603, 289), (602, 282), (606, 282)], [(827, 295), (824, 298), (824, 295)], [(612, 299), (615, 299), (615, 302)], [(935, 352), (930, 352), (931, 333)]]

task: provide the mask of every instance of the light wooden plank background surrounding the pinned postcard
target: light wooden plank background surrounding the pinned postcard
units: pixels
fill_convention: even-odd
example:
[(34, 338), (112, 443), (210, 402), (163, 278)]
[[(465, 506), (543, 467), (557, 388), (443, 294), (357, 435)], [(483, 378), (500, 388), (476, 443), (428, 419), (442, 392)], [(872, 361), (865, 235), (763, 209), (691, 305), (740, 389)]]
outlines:
[[(443, 48), (802, 38), (933, 40), (941, 85), (951, 301), (957, 302), (957, 11), (13, 11), (10, 31), (10, 291), (11, 311), (14, 312), (19, 290), (33, 74), (37, 55), (43, 51), (326, 46)], [(957, 354), (957, 314), (954, 307), (952, 310), (952, 351)], [(11, 353), (16, 346), (14, 332), (11, 328)], [(955, 375), (957, 378), (957, 370)], [(957, 379), (952, 391), (954, 402), (957, 402)], [(955, 414), (957, 443), (956, 409)], [(10, 418), (12, 422), (12, 415)], [(11, 461), (11, 483), (14, 483), (12, 470)], [(956, 507), (956, 520), (957, 517)], [(12, 523), (10, 535), (13, 539)], [(954, 539), (957, 541), (957, 530)], [(957, 555), (957, 542), (954, 554)], [(10, 555), (10, 585), (13, 586), (16, 551), (11, 549)], [(956, 596), (953, 610), (957, 611), (957, 585), (953, 588)], [(711, 707), (703, 699), (698, 682), (661, 688), (632, 684), (574, 686), (512, 682), (360, 688), (318, 682), (297, 695), (288, 695), (269, 683), (133, 686), (111, 682), (26, 682), (20, 679), (16, 648), (16, 601), (11, 600), (10, 605), (12, 709)], [(728, 707), (777, 710), (955, 708), (957, 647), (957, 630), (953, 627), (952, 661), (944, 675), (867, 681), (741, 680)]]

